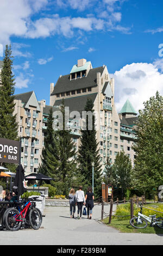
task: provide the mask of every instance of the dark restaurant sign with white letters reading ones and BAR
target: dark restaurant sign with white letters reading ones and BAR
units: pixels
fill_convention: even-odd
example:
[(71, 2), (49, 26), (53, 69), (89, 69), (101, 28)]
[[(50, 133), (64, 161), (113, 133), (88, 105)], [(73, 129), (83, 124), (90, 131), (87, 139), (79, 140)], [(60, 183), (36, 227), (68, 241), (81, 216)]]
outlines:
[(0, 138), (0, 162), (19, 163), (20, 142)]

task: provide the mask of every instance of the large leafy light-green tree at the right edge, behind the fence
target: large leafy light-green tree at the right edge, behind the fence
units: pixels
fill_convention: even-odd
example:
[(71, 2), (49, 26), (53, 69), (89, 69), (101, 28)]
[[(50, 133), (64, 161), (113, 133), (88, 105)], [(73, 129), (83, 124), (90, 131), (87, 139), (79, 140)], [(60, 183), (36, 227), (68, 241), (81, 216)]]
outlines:
[(143, 103), (136, 122), (136, 153), (134, 174), (135, 187), (141, 192), (163, 184), (163, 97), (156, 95)]

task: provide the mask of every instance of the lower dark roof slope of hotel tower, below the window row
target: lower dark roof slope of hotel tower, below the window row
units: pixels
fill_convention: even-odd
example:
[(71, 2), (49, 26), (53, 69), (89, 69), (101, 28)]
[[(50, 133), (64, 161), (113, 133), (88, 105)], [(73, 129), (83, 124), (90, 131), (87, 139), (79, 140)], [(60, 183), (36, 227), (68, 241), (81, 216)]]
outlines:
[[(78, 111), (81, 113), (82, 111), (84, 111), (87, 98), (91, 98), (92, 101), (95, 102), (96, 96), (97, 96), (97, 93), (92, 93), (92, 94), (86, 94), (86, 95), (64, 99), (65, 107), (69, 107), (70, 112)], [(62, 100), (56, 100), (54, 103), (54, 106), (60, 106), (61, 103), (62, 103)]]

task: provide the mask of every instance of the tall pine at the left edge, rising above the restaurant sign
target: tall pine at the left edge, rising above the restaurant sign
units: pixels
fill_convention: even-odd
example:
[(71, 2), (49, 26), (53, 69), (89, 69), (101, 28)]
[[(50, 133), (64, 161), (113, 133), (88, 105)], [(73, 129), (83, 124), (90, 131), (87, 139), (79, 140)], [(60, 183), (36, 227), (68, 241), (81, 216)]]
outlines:
[(14, 113), (15, 79), (12, 75), (11, 46), (6, 45), (3, 68), (0, 74), (0, 138), (17, 139), (17, 122)]

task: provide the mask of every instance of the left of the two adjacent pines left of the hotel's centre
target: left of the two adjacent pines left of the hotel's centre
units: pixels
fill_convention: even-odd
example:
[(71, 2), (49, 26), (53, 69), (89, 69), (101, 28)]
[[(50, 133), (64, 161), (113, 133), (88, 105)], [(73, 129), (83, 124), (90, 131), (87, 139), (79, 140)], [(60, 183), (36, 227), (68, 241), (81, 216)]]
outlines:
[(39, 166), (39, 172), (58, 181), (59, 145), (57, 133), (53, 130), (53, 120), (54, 118), (51, 108), (47, 118), (47, 133), (42, 149), (42, 163)]

